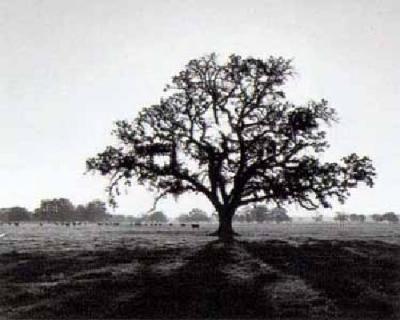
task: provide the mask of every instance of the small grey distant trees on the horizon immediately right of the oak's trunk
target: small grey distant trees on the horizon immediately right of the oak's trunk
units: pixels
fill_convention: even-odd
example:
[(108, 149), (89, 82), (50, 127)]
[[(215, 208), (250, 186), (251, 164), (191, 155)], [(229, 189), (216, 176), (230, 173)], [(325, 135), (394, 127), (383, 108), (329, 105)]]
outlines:
[(235, 217), (234, 221), (236, 222), (257, 222), (257, 223), (266, 223), (266, 222), (291, 222), (292, 218), (290, 218), (287, 214), (287, 210), (282, 207), (276, 207), (273, 209), (268, 209), (267, 206), (264, 205), (256, 205), (256, 206), (248, 206), (242, 209)]

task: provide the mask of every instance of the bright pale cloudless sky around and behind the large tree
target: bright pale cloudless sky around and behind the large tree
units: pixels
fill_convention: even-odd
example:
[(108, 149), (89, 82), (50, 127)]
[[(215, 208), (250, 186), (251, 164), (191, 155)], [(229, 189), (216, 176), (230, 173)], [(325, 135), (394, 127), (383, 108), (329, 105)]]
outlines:
[[(398, 0), (1, 0), (0, 207), (106, 199), (107, 180), (83, 173), (113, 121), (216, 52), (294, 58), (292, 100), (325, 98), (341, 117), (326, 159), (369, 155), (379, 175), (335, 209), (399, 212), (399, 32)], [(152, 206), (136, 186), (119, 200), (123, 214)], [(211, 211), (193, 196), (159, 204), (170, 216), (195, 206)]]

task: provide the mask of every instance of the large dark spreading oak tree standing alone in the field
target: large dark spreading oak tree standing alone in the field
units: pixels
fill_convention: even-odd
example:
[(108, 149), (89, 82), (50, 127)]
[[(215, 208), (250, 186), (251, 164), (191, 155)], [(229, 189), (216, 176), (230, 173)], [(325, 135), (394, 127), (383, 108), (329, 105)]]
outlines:
[[(336, 120), (325, 100), (295, 105), (282, 91), (290, 60), (211, 54), (191, 60), (166, 87), (169, 94), (132, 122), (118, 121), (119, 144), (88, 159), (89, 171), (110, 176), (110, 201), (121, 183), (168, 194), (205, 195), (218, 212), (215, 235), (233, 237), (236, 210), (257, 202), (298, 203), (313, 210), (343, 203), (360, 182), (373, 185), (368, 157), (322, 162), (325, 127)], [(135, 180), (133, 180), (135, 179)]]

